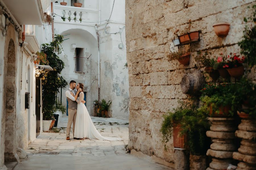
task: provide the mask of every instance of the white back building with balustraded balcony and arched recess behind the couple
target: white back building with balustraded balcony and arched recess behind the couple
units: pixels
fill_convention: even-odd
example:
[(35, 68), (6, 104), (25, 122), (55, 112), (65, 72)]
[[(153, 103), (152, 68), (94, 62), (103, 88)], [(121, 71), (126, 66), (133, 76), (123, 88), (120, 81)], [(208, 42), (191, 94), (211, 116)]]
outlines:
[[(125, 0), (115, 3), (114, 0), (80, 0), (82, 7), (71, 6), (73, 0), (65, 0), (67, 6), (60, 2), (55, 3), (53, 12), (55, 33), (64, 36), (61, 45), (65, 55), (59, 56), (65, 62), (61, 76), (67, 82), (75, 80), (84, 84), (90, 114), (93, 113), (93, 101), (100, 98), (112, 101), (111, 117), (128, 120)], [(63, 104), (66, 104), (67, 89), (68, 86), (62, 89)]]

